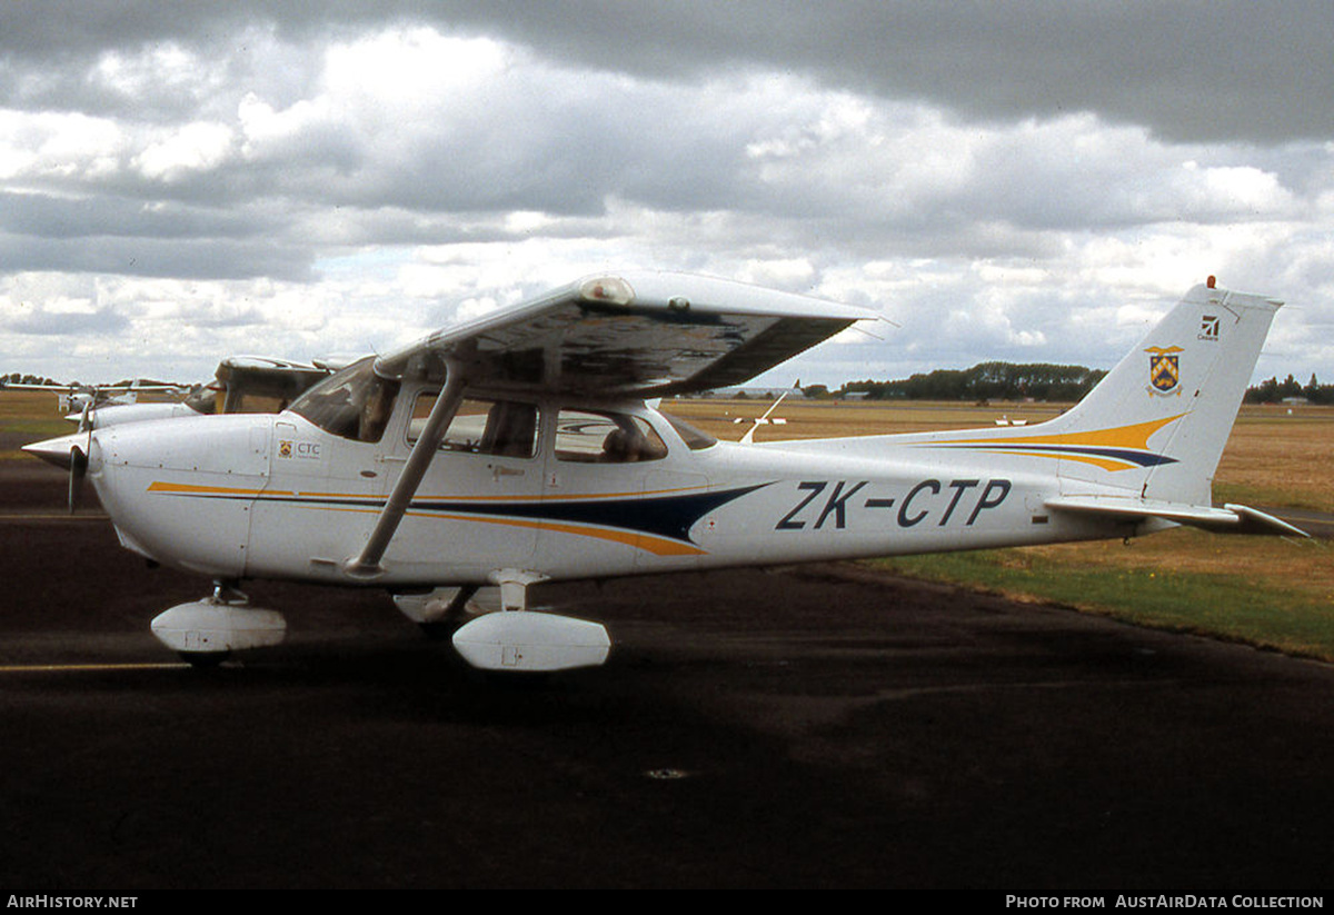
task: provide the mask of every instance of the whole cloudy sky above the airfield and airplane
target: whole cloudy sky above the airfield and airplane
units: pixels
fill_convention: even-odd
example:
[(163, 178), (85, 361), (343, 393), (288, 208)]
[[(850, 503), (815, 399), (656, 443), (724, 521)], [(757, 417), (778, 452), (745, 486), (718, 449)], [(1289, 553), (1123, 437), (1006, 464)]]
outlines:
[[(308, 9), (297, 9), (299, 7)], [(766, 380), (1110, 367), (1182, 292), (1334, 381), (1334, 5), (0, 5), (0, 373), (383, 351), (620, 267), (894, 321)]]

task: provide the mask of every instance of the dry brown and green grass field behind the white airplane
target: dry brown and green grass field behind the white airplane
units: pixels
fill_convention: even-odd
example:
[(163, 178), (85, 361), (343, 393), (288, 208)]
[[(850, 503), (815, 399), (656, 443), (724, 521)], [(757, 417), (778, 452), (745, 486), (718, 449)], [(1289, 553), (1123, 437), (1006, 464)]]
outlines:
[[(739, 439), (768, 403), (680, 400), (664, 407), (720, 439)], [(784, 401), (756, 439), (878, 435), (1038, 423), (1065, 407), (928, 403)], [(738, 423), (735, 420), (744, 420)], [(71, 424), (55, 396), (0, 392), (0, 440), (61, 435)], [(1334, 512), (1325, 472), (1334, 443), (1334, 408), (1245, 407), (1214, 486), (1215, 503)], [(33, 460), (16, 444), (0, 460)], [(875, 560), (896, 575), (952, 582), (1019, 599), (1047, 600), (1142, 626), (1199, 632), (1334, 660), (1334, 546), (1329, 540), (1245, 538), (1174, 530), (1121, 542), (1025, 547)]]

